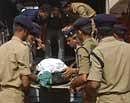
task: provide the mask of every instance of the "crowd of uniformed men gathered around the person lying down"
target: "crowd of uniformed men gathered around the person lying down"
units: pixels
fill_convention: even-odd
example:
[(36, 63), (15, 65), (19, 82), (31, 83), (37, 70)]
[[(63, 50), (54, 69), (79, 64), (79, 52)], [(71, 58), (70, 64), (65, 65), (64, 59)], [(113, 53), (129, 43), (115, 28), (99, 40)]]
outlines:
[(74, 48), (76, 59), (63, 76), (81, 103), (130, 103), (129, 32), (115, 16), (62, 1), (23, 11), (13, 31), (12, 39), (0, 46), (0, 103), (28, 102), (29, 85), (37, 81), (31, 72), (37, 54), (64, 61), (64, 43)]

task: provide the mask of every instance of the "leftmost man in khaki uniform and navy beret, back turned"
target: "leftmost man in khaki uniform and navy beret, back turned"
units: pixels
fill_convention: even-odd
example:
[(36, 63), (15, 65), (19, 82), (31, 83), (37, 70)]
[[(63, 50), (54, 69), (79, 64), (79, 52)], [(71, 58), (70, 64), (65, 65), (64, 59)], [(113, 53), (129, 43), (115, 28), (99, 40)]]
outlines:
[(0, 47), (0, 103), (23, 103), (29, 86), (29, 49), (23, 43), (32, 29), (25, 16), (14, 20), (14, 36)]

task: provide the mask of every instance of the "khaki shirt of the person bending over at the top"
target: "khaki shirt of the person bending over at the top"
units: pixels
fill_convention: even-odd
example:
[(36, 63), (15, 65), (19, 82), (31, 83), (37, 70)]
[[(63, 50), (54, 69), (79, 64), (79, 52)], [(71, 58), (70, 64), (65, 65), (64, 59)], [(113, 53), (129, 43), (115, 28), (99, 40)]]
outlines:
[(93, 17), (96, 15), (94, 9), (84, 3), (72, 3), (71, 7), (73, 8), (73, 12), (77, 13), (81, 17)]

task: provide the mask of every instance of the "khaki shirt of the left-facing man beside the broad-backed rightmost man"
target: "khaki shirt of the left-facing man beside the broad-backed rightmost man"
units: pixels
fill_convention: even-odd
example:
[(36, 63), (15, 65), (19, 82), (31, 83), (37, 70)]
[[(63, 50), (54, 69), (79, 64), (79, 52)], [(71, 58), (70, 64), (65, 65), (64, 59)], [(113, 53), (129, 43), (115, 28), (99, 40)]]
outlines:
[(86, 39), (82, 45), (84, 48), (86, 48), (86, 50), (88, 52), (85, 51), (85, 49), (83, 49), (83, 48), (79, 48), (77, 53), (78, 53), (79, 73), (80, 74), (82, 74), (82, 73), (88, 74), (89, 66), (90, 66), (89, 55), (90, 55), (91, 51), (96, 47), (96, 45), (97, 45), (96, 41), (93, 38), (89, 38), (89, 39)]

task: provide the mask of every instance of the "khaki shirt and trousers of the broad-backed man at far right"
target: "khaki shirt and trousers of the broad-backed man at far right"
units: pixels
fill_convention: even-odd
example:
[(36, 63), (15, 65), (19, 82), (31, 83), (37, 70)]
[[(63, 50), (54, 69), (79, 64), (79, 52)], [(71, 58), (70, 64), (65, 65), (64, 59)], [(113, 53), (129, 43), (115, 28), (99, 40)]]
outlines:
[(88, 80), (100, 82), (97, 103), (130, 103), (130, 45), (113, 36), (104, 38), (91, 56)]

